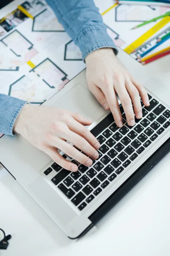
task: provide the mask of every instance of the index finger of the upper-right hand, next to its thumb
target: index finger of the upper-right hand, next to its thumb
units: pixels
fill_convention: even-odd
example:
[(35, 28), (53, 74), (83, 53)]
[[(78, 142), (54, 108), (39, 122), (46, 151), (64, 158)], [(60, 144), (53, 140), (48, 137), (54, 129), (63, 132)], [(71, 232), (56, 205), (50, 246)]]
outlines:
[(123, 126), (122, 114), (120, 112), (119, 103), (116, 98), (116, 93), (113, 89), (113, 81), (107, 82), (105, 86), (102, 86), (102, 91), (105, 94), (109, 108), (113, 114), (116, 125), (119, 127)]

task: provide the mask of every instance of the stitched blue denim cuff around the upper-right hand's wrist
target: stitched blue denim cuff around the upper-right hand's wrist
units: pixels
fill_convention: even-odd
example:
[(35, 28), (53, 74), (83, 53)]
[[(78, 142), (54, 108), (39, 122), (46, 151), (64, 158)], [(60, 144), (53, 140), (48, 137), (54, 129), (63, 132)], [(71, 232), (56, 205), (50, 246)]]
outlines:
[(113, 48), (114, 53), (116, 55), (118, 53), (116, 45), (103, 27), (86, 27), (79, 33), (75, 43), (82, 51), (83, 60), (85, 60), (89, 53), (100, 48)]

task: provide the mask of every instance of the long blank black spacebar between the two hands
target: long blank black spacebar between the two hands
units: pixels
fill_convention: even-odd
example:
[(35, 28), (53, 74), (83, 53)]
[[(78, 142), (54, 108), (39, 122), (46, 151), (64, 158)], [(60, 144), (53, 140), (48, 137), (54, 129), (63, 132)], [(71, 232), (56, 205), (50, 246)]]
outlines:
[(91, 133), (94, 135), (94, 137), (97, 137), (105, 128), (107, 128), (109, 125), (111, 125), (114, 122), (113, 114), (110, 113), (108, 116), (106, 116), (101, 122), (99, 122), (98, 125), (96, 125), (92, 130)]

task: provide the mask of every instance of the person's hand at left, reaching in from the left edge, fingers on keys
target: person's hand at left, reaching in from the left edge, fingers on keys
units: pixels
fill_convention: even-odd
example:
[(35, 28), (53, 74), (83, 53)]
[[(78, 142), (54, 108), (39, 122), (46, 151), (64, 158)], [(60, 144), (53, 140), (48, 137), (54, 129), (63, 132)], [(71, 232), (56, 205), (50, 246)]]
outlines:
[[(77, 113), (26, 104), (17, 116), (13, 131), (44, 151), (63, 168), (76, 172), (77, 165), (65, 160), (57, 148), (79, 163), (91, 166), (93, 163), (91, 158), (96, 160), (99, 157), (96, 149), (99, 149), (100, 144), (84, 125), (91, 125), (91, 121)], [(66, 141), (71, 142), (91, 158)]]

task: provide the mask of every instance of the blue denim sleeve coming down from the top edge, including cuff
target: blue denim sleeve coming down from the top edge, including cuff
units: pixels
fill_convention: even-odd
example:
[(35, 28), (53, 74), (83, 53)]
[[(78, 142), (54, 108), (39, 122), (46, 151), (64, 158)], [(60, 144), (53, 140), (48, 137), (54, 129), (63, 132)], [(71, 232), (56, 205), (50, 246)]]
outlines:
[(99, 48), (117, 49), (93, 0), (46, 0), (85, 57)]

